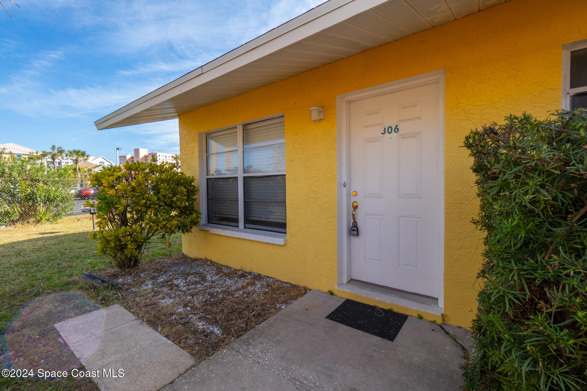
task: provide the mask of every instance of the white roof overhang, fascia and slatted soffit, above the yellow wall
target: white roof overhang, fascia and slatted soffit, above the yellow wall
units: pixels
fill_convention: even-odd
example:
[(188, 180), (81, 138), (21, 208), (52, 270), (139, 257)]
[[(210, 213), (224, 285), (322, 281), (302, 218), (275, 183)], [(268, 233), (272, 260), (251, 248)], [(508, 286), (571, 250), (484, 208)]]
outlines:
[(98, 130), (170, 120), (508, 0), (329, 0), (119, 108)]

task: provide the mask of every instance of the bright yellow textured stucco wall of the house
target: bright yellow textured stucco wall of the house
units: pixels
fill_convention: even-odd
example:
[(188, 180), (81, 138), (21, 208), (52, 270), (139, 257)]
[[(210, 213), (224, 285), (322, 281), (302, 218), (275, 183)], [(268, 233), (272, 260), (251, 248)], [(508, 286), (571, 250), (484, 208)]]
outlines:
[[(458, 21), (377, 47), (220, 103), (181, 115), (182, 171), (198, 178), (201, 131), (285, 113), (287, 239), (285, 246), (205, 231), (184, 236), (183, 249), (228, 266), (323, 291), (336, 285), (336, 96), (444, 69), (444, 316), (468, 327), (476, 304), (481, 234), (471, 225), (478, 203), (462, 145), (465, 134), (505, 114), (544, 117), (561, 107), (562, 45), (587, 38), (585, 0), (512, 0)], [(324, 107), (312, 122), (309, 107)], [(343, 297), (393, 307), (344, 291)]]

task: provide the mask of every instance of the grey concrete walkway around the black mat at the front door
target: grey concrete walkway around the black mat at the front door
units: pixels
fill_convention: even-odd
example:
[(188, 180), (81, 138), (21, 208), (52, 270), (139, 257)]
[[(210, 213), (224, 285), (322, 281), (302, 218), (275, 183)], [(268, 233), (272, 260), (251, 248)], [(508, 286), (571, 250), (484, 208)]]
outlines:
[[(462, 351), (438, 325), (409, 317), (390, 342), (325, 319), (343, 301), (310, 291), (163, 390), (456, 391), (463, 384)], [(468, 332), (450, 332), (471, 345)]]

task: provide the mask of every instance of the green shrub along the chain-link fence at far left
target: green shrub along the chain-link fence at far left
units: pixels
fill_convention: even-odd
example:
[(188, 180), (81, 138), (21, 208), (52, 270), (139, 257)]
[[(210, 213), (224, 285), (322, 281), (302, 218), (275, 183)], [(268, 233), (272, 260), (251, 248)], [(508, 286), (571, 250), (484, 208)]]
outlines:
[(49, 223), (69, 215), (77, 183), (69, 172), (53, 171), (35, 158), (0, 155), (0, 225)]

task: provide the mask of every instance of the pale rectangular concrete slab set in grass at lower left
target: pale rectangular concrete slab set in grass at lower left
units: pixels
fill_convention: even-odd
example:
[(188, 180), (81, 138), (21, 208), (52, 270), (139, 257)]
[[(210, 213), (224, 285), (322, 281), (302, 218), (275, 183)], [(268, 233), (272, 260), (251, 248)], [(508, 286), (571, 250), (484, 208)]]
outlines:
[(55, 328), (85, 370), (93, 372), (101, 391), (158, 390), (195, 363), (189, 353), (117, 304)]

